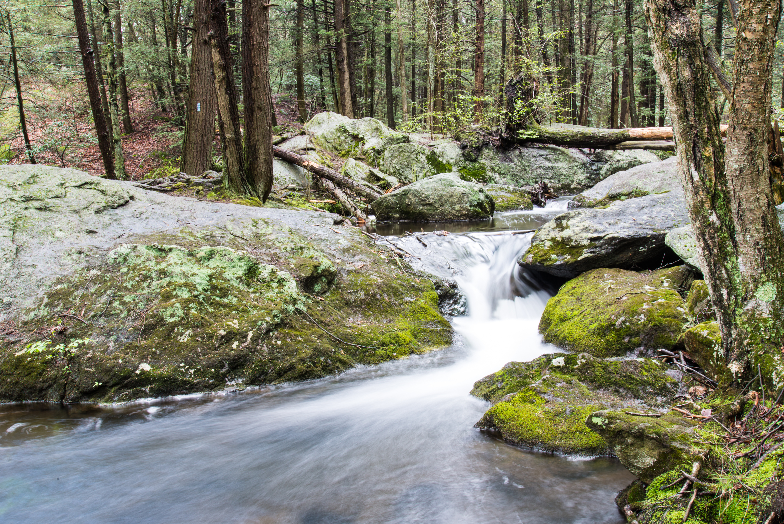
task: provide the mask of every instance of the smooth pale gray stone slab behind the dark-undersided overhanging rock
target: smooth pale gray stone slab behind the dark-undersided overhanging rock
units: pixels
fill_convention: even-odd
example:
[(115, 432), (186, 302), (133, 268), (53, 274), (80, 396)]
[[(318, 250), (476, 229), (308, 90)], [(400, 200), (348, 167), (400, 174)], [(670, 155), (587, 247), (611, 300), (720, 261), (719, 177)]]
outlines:
[(658, 159), (641, 166), (614, 173), (583, 191), (569, 202), (569, 208), (606, 206), (614, 200), (682, 191), (677, 157), (663, 162)]

